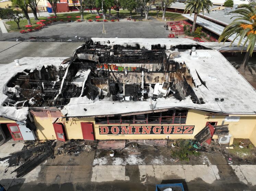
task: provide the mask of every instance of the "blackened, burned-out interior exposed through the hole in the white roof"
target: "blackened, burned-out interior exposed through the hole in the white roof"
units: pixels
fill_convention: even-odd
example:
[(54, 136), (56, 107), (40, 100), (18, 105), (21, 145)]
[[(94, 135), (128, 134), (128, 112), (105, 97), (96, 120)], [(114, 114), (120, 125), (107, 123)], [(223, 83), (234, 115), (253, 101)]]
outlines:
[[(176, 46), (168, 51), (174, 51), (174, 48), (184, 47)], [(185, 48), (191, 47), (187, 45)], [(5, 94), (8, 99), (3, 106), (60, 107), (80, 96), (92, 100), (112, 96), (113, 101), (174, 96), (181, 101), (191, 95), (194, 103), (203, 104), (202, 98), (197, 98), (193, 91), (195, 85), (185, 63), (174, 62), (173, 58), (160, 45), (147, 50), (139, 45), (110, 47), (89, 40), (78, 47), (71, 58), (63, 60), (59, 68), (49, 63), (13, 76), (7, 84)], [(84, 71), (88, 70), (89, 76), (82, 86)], [(157, 83), (168, 91), (150, 94)]]

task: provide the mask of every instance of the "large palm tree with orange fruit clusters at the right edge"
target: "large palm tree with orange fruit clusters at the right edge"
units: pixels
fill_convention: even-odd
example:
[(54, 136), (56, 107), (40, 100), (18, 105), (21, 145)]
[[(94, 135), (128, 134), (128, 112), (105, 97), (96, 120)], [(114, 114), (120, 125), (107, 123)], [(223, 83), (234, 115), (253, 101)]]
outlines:
[[(231, 13), (235, 13), (237, 15), (233, 17), (238, 17), (232, 21), (227, 27), (224, 28), (222, 34), (219, 37), (219, 42), (224, 39), (224, 42), (228, 40), (231, 35), (235, 35), (235, 38), (240, 36), (240, 40), (237, 46), (240, 46), (243, 42), (243, 49), (247, 45), (246, 54), (244, 56), (243, 62), (238, 69), (240, 73), (245, 73), (245, 68), (248, 63), (249, 57), (252, 56), (254, 46), (255, 46), (255, 38), (256, 38), (256, 12), (255, 12), (255, 4), (241, 4), (238, 6), (235, 11)], [(233, 18), (231, 17), (231, 18)], [(234, 42), (231, 42), (231, 44)], [(242, 50), (243, 50), (242, 49)]]

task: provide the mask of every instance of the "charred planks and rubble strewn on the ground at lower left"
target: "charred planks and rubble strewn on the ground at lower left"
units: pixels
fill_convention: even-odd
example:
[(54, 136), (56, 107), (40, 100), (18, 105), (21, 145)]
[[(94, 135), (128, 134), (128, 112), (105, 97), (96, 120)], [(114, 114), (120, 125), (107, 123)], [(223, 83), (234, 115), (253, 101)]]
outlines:
[(55, 140), (26, 141), (21, 151), (0, 158), (0, 161), (8, 162), (9, 166), (18, 166), (13, 172), (16, 172), (16, 177), (20, 178), (47, 159), (54, 159), (56, 155), (78, 156), (81, 152), (90, 152), (97, 147), (97, 143), (87, 143), (83, 139), (70, 139), (61, 146), (57, 146), (58, 148), (56, 143)]

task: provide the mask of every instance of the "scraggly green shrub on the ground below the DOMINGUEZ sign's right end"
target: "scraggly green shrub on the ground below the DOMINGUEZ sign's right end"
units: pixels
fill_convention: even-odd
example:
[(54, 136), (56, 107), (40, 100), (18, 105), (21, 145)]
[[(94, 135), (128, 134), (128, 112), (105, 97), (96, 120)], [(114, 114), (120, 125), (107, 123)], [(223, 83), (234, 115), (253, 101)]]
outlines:
[(182, 140), (177, 149), (172, 152), (172, 157), (179, 158), (182, 161), (189, 161), (188, 156), (200, 156), (200, 152), (196, 152), (188, 141)]

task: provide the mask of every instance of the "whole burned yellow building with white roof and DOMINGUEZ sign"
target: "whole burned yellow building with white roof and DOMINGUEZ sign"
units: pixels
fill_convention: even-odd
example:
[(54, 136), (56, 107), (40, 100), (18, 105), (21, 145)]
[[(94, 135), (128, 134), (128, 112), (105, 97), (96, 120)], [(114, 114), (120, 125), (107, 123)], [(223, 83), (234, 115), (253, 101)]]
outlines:
[(70, 58), (19, 62), (1, 66), (3, 138), (194, 138), (218, 123), (256, 141), (255, 89), (189, 39), (92, 38)]

